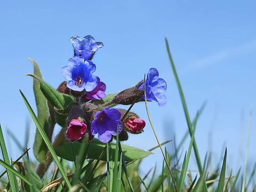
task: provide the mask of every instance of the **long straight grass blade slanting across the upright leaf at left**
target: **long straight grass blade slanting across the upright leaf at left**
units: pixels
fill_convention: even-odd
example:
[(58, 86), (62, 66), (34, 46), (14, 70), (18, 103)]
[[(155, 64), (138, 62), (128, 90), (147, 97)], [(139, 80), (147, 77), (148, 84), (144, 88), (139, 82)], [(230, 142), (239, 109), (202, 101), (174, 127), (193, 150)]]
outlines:
[(67, 175), (66, 175), (64, 169), (62, 168), (62, 166), (61, 166), (61, 164), (59, 162), (59, 159), (58, 159), (58, 157), (57, 157), (57, 155), (56, 155), (56, 153), (55, 153), (55, 151), (54, 151), (54, 149), (53, 149), (53, 147), (52, 147), (52, 145), (51, 145), (47, 135), (45, 134), (45, 132), (44, 132), (43, 128), (41, 127), (40, 122), (38, 121), (38, 119), (37, 119), (33, 109), (31, 108), (30, 104), (28, 103), (26, 97), (24, 96), (24, 94), (23, 94), (23, 92), (21, 90), (20, 90), (20, 93), (22, 95), (22, 98), (23, 98), (23, 100), (24, 100), (24, 102), (25, 102), (25, 104), (27, 106), (27, 109), (28, 109), (32, 119), (34, 120), (34, 122), (35, 122), (35, 124), (36, 124), (36, 126), (37, 126), (37, 128), (38, 128), (38, 130), (39, 130), (39, 132), (41, 134), (41, 136), (43, 137), (43, 140), (44, 140), (46, 146), (48, 147), (49, 151), (52, 154), (52, 157), (53, 157), (57, 167), (59, 168), (59, 171), (60, 171), (60, 173), (61, 173), (65, 183), (67, 184), (68, 189), (71, 189), (72, 186), (71, 186), (71, 184), (69, 182), (69, 179), (67, 178)]

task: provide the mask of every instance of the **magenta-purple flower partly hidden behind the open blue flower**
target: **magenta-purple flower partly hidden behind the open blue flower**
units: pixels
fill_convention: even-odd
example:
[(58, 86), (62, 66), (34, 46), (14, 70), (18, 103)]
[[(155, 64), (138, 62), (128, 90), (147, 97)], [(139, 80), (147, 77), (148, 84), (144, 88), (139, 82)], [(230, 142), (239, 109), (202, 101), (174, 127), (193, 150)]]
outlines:
[(106, 98), (105, 91), (106, 91), (106, 85), (100, 81), (100, 78), (97, 77), (98, 85), (96, 88), (94, 88), (92, 91), (87, 91), (87, 95), (85, 97), (85, 100), (91, 100), (91, 99), (104, 99)]

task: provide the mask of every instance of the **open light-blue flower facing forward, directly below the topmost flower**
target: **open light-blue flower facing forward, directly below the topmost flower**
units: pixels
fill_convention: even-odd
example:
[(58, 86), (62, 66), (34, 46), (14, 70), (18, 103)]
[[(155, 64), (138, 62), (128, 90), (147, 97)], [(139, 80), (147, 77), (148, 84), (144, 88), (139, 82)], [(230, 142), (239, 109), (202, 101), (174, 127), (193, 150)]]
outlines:
[(85, 61), (84, 57), (74, 56), (68, 61), (69, 66), (61, 69), (63, 77), (70, 82), (67, 87), (74, 91), (92, 91), (97, 85), (97, 76), (92, 75), (96, 66), (91, 61)]

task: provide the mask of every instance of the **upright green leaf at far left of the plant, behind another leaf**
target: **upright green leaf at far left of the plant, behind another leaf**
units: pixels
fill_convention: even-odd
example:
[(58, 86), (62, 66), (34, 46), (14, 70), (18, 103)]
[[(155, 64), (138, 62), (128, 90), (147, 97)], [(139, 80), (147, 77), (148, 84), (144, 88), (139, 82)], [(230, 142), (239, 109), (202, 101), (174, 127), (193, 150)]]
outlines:
[[(37, 65), (37, 63), (28, 58), (34, 67), (34, 75), (38, 76), (39, 78), (42, 78), (40, 69)], [(40, 124), (42, 125), (42, 128), (44, 130), (44, 132), (47, 134), (50, 124), (48, 122), (49, 119), (49, 109), (47, 106), (47, 100), (44, 97), (41, 89), (40, 89), (40, 83), (39, 81), (37, 81), (36, 79), (33, 79), (33, 90), (34, 90), (34, 95), (35, 95), (35, 100), (36, 100), (36, 105), (37, 105), (37, 117), (38, 120), (40, 122)], [(33, 144), (33, 152), (34, 155), (36, 157), (36, 159), (40, 162), (40, 163), (44, 163), (44, 157), (45, 157), (45, 152), (46, 152), (46, 144), (43, 141), (43, 138), (41, 136), (41, 134), (39, 133), (38, 129), (36, 129), (36, 134), (35, 134), (35, 140), (34, 140), (34, 144)]]

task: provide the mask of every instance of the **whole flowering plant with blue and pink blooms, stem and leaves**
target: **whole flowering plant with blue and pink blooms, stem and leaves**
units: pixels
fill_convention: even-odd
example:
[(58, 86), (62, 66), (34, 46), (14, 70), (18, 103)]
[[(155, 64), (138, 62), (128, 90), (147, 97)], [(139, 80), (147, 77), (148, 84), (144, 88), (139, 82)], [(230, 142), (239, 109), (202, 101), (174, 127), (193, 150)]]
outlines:
[[(103, 43), (95, 42), (90, 35), (85, 36), (83, 40), (73, 36), (70, 41), (74, 48), (74, 56), (68, 60), (68, 66), (60, 70), (67, 81), (62, 82), (57, 89), (42, 80), (37, 64), (31, 60), (35, 73), (28, 75), (34, 77), (38, 119), (45, 133), (52, 133), (55, 123), (62, 127), (52, 144), (57, 155), (74, 161), (73, 158), (70, 159), (71, 155), (67, 152), (66, 144), (73, 143), (72, 146), (75, 146), (76, 143), (90, 143), (89, 151), (92, 156), (88, 158), (97, 159), (100, 158), (97, 152), (103, 150), (99, 150), (99, 142), (101, 145), (110, 143), (117, 137), (119, 141), (125, 141), (129, 134), (140, 134), (146, 127), (146, 121), (140, 119), (136, 113), (115, 108), (119, 104), (130, 105), (144, 101), (144, 80), (119, 93), (106, 95), (106, 85), (100, 81), (100, 77), (93, 75), (96, 64), (91, 61), (95, 52), (103, 47)], [(166, 97), (163, 93), (167, 85), (158, 76), (155, 68), (149, 70), (145, 80), (146, 96), (147, 100), (156, 101), (159, 106), (164, 106)], [(51, 136), (51, 134), (48, 136), (49, 140)], [(98, 139), (94, 139), (95, 136)], [(73, 149), (73, 154), (77, 152), (77, 148), (80, 146)], [(35, 157), (41, 162), (38, 174), (42, 177), (52, 158), (49, 158), (45, 142), (38, 131), (33, 149)], [(130, 157), (124, 154), (127, 160), (140, 159), (150, 154), (134, 148), (130, 149), (130, 152), (132, 153)]]

